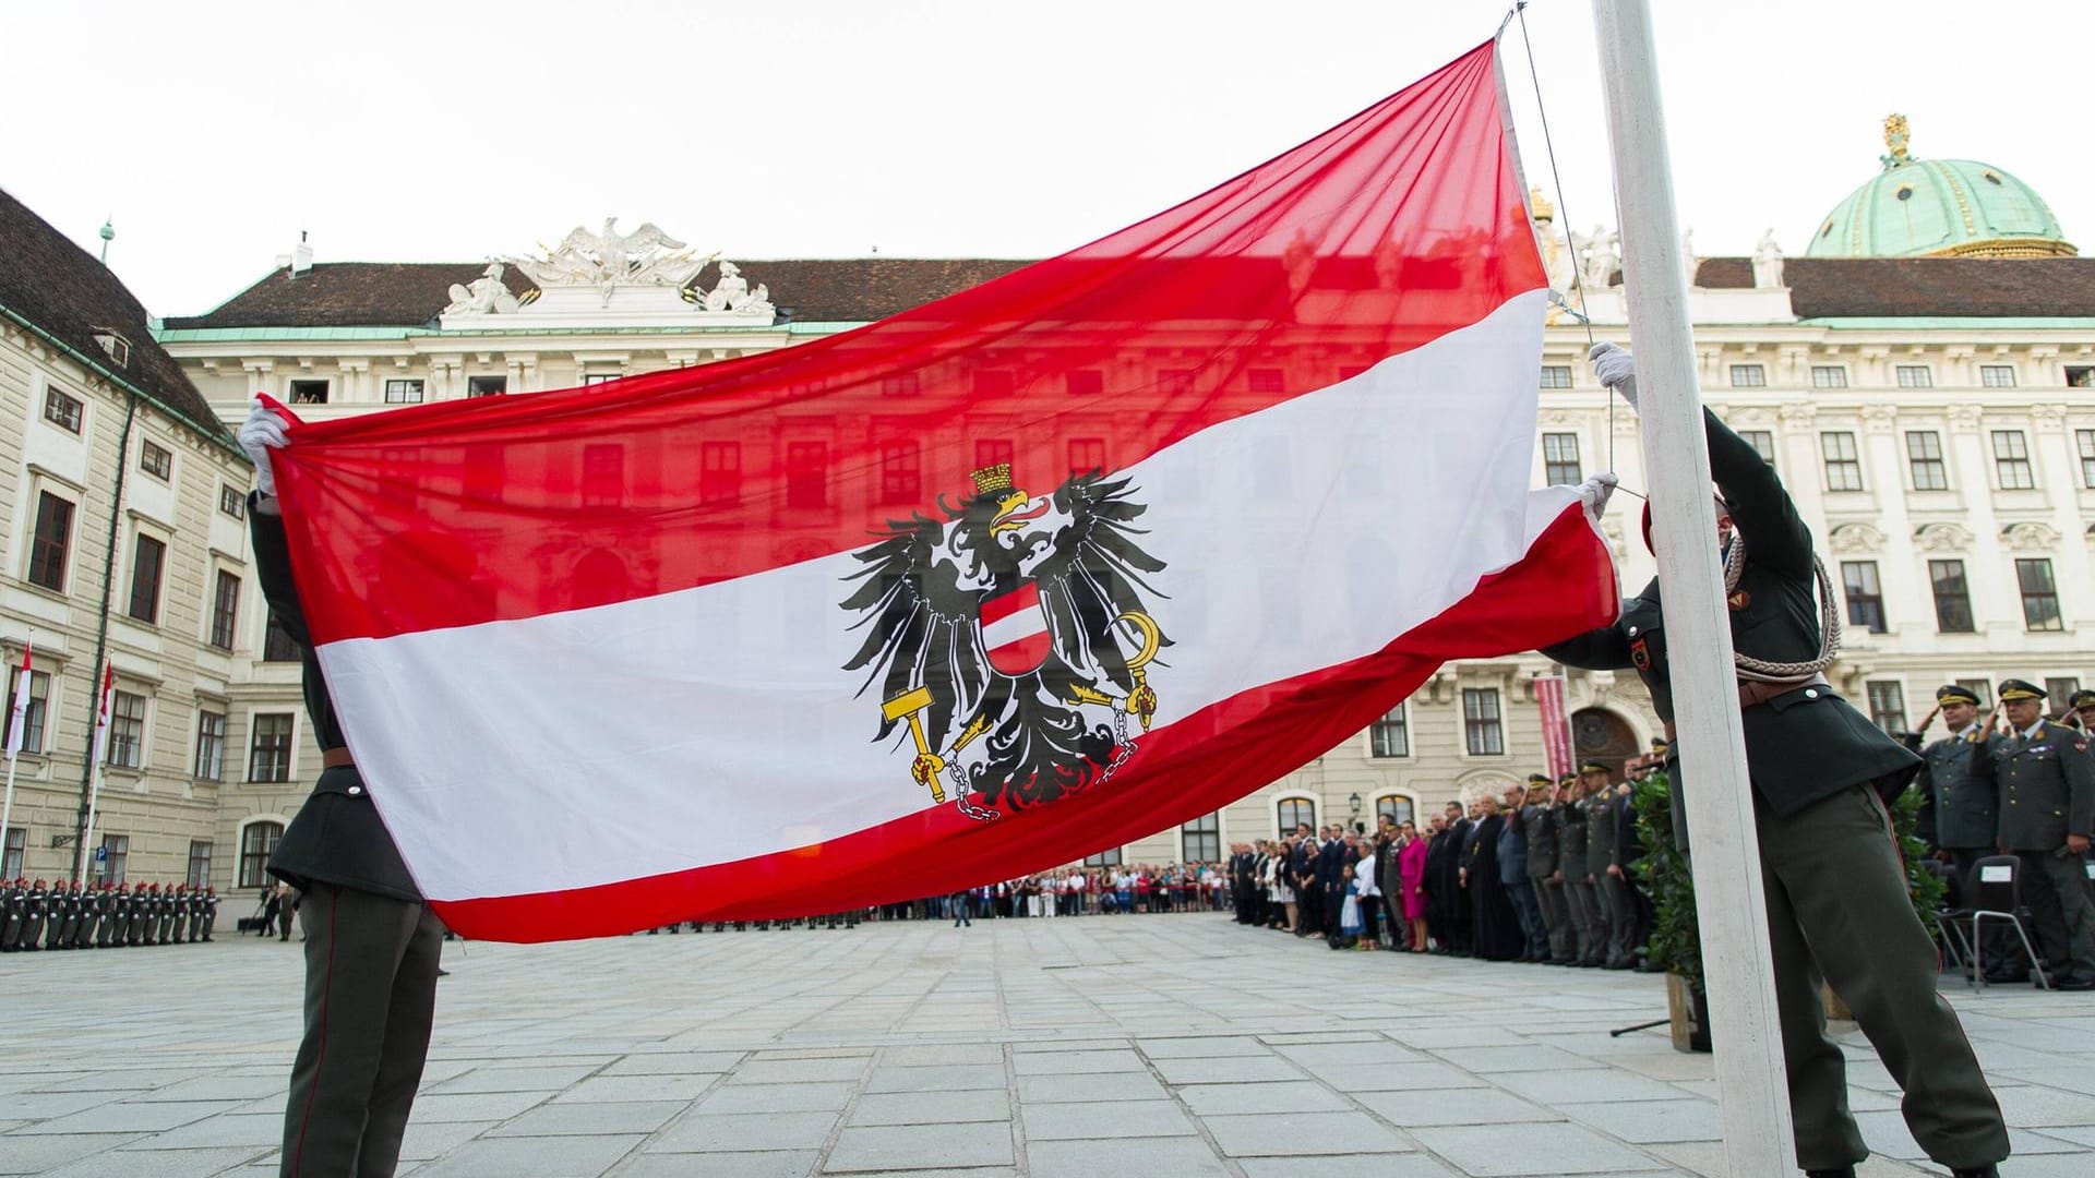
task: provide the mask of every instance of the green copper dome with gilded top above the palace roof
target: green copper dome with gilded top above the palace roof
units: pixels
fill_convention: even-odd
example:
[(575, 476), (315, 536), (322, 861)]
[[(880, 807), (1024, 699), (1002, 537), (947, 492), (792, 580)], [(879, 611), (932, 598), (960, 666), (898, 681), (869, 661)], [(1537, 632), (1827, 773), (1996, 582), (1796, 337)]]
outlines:
[(2070, 258), (2034, 189), (1990, 163), (1915, 159), (1906, 117), (1883, 119), (1883, 172), (1833, 205), (1810, 258)]

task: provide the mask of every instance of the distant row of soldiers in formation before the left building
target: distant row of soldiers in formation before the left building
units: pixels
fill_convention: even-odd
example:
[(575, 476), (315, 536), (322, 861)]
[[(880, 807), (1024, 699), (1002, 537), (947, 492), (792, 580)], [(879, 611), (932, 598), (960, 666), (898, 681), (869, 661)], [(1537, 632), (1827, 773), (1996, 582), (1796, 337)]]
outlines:
[(216, 920), (218, 893), (210, 887), (46, 887), (23, 878), (0, 887), (0, 954), (210, 941)]

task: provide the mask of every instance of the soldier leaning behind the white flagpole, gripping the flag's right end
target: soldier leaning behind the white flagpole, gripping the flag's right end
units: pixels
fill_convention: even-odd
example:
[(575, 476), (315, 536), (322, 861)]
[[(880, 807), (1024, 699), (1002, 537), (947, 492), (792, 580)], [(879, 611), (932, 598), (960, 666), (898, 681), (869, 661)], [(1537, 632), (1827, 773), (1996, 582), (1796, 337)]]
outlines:
[[(1598, 344), (1592, 361), (1601, 381), (1634, 409), (1630, 354)], [(1906, 1128), (1921, 1149), (1957, 1178), (1994, 1178), (2009, 1149), (2007, 1126), (1971, 1042), (1936, 991), (1936, 945), (1913, 914), (1892, 817), (1877, 792), (1904, 788), (1919, 759), (1842, 700), (1825, 677), (1789, 671), (1831, 660), (1810, 530), (1774, 467), (1749, 442), (1707, 411), (1703, 432), (1710, 474), (1726, 505), (1714, 541), (1726, 562), (1733, 643), (1747, 671), (1739, 708), (1798, 1163), (1806, 1174), (1852, 1178), (1854, 1165), (1869, 1157), (1848, 1111), (1846, 1054), (1825, 1035), (1825, 981), (1854, 1008), (1904, 1090)], [(1615, 625), (1544, 654), (1592, 671), (1634, 667), (1659, 719), (1672, 723), (1657, 581), (1624, 602)], [(1693, 799), (1693, 782), (1678, 778), (1678, 759), (1668, 769), (1676, 797)], [(1693, 826), (1693, 805), (1676, 813)]]

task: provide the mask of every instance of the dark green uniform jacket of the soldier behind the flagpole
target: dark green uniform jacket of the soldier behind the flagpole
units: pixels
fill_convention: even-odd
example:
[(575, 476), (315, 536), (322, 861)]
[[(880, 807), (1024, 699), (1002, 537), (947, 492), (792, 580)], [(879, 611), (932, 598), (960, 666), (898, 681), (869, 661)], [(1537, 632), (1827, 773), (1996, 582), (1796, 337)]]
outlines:
[[(1703, 411), (1710, 474), (1745, 539), (1745, 572), (1730, 595), (1730, 641), (1739, 654), (1768, 662), (1804, 662), (1818, 654), (1812, 532), (1789, 493), (1739, 434)], [(1659, 719), (1674, 719), (1659, 583), (1622, 604), (1611, 627), (1544, 648), (1557, 662), (1590, 671), (1634, 667), (1651, 690)], [(1754, 792), (1774, 813), (1789, 815), (1856, 784), (1904, 788), (1921, 759), (1869, 723), (1825, 685), (1798, 688), (1758, 708), (1745, 708), (1745, 763)]]

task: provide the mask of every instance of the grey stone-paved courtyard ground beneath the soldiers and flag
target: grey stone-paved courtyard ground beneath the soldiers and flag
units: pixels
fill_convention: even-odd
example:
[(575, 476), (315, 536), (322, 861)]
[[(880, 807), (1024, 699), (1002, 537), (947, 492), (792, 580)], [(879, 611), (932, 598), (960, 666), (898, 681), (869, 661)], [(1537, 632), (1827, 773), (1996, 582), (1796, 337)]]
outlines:
[[(1722, 1174), (1657, 977), (1335, 954), (1228, 916), (446, 945), (423, 1178)], [(0, 1174), (274, 1174), (295, 945), (0, 958)], [(2009, 1178), (2095, 1174), (2095, 1000), (1944, 989)], [(1858, 1033), (1877, 1159), (1936, 1170)], [(1337, 1170), (1335, 1170), (1337, 1165)], [(1756, 1176), (1758, 1178), (1758, 1176)]]

